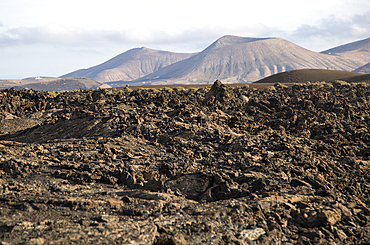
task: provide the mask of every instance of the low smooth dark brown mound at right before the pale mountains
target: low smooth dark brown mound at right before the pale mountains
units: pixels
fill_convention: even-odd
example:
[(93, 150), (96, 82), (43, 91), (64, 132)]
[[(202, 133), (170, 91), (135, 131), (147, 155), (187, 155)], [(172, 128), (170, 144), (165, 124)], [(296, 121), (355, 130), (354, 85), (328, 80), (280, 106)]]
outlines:
[(332, 82), (334, 80), (345, 80), (349, 82), (367, 81), (364, 75), (354, 72), (321, 70), (321, 69), (303, 69), (278, 73), (255, 83), (305, 83), (309, 82)]

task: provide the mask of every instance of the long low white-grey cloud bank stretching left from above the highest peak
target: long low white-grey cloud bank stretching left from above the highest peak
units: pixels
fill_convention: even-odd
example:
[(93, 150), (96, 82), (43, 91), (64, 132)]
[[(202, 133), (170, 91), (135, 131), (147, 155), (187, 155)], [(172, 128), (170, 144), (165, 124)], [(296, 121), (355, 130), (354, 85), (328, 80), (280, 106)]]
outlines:
[[(1, 22), (0, 22), (1, 27)], [(140, 26), (130, 29), (83, 29), (76, 27), (65, 27), (60, 24), (51, 23), (36, 27), (16, 27), (5, 29), (0, 33), (0, 40), (4, 43), (13, 41), (14, 44), (32, 43), (83, 43), (86, 41), (110, 41), (110, 42), (183, 42), (194, 41), (195, 38), (209, 36), (221, 36), (224, 34), (265, 35), (273, 30), (262, 24), (254, 25), (209, 25), (201, 27), (189, 27), (183, 29), (161, 29)], [(10, 45), (11, 43), (9, 43)]]

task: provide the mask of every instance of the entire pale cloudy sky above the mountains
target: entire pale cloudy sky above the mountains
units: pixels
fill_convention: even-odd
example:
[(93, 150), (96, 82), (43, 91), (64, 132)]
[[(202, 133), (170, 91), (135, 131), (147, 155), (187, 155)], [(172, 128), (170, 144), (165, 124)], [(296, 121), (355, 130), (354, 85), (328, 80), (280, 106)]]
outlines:
[(320, 52), (370, 37), (370, 1), (0, 0), (0, 79), (61, 76), (142, 46), (199, 52), (224, 35)]

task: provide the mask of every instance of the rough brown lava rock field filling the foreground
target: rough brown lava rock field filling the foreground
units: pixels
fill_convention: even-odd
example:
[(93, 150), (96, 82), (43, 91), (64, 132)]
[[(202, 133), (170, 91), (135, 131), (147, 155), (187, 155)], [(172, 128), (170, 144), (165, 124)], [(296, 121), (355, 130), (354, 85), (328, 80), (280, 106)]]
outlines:
[(0, 244), (368, 244), (370, 87), (0, 91)]

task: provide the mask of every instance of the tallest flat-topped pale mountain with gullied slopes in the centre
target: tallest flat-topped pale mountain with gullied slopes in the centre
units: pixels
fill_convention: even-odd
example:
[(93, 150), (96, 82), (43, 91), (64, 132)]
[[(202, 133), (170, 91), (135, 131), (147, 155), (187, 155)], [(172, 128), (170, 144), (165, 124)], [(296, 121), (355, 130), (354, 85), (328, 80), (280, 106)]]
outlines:
[(253, 82), (279, 72), (353, 70), (365, 64), (304, 49), (281, 38), (223, 36), (202, 52), (132, 81), (132, 85)]

